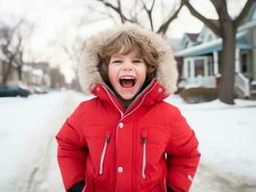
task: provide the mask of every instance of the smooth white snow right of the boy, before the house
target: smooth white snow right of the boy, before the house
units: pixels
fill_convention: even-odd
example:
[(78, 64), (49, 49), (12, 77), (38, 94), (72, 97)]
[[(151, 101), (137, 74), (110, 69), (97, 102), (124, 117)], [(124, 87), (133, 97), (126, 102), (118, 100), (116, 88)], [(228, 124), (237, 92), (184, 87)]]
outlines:
[[(216, 100), (185, 104), (172, 96), (167, 102), (180, 108), (199, 140), (200, 164), (212, 174), (234, 182), (256, 184), (256, 102), (236, 100), (230, 106)], [(256, 188), (254, 188), (254, 191)]]

